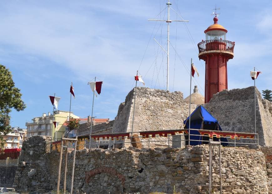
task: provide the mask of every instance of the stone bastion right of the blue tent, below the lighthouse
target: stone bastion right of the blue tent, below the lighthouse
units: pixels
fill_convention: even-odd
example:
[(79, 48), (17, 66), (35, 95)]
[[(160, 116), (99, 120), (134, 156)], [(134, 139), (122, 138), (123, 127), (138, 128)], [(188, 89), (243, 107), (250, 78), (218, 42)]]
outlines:
[[(254, 87), (218, 92), (204, 107), (218, 119), (223, 131), (255, 132)], [(259, 145), (272, 146), (271, 109), (271, 102), (262, 100), (256, 89), (256, 133), (259, 134)]]

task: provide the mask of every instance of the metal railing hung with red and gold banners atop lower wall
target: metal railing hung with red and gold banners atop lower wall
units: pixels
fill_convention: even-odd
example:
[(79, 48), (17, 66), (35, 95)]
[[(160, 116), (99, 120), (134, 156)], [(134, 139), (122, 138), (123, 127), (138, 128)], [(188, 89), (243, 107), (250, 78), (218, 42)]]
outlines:
[[(189, 135), (190, 131), (190, 135)], [(192, 131), (198, 131), (199, 134), (192, 134)], [(135, 134), (137, 134), (135, 136)], [(173, 140), (173, 135), (181, 135), (183, 138)], [(93, 138), (94, 137), (94, 138)], [(199, 138), (193, 138), (199, 137)], [(259, 145), (259, 135), (254, 133), (214, 131), (202, 129), (180, 129), (180, 130), (160, 130), (160, 131), (142, 131), (133, 133), (118, 133), (118, 134), (94, 134), (91, 140), (87, 135), (79, 136), (77, 149), (84, 148), (121, 148), (124, 145), (133, 146), (136, 148), (147, 147), (173, 147), (173, 142), (181, 143), (180, 147), (188, 144), (196, 145), (209, 144), (209, 139), (226, 138), (227, 141), (220, 141), (221, 144), (227, 146), (244, 146), (244, 145)], [(247, 140), (245, 142), (244, 140)], [(61, 141), (55, 141), (48, 144), (47, 152), (52, 150), (60, 151)], [(68, 150), (72, 151), (73, 144), (69, 144)]]

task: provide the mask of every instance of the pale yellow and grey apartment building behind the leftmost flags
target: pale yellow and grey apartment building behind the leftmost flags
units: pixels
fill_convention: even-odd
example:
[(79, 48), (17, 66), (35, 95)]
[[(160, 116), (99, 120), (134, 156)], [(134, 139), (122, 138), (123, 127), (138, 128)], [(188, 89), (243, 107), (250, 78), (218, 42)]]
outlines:
[[(70, 116), (73, 118), (79, 118), (72, 112)], [(60, 110), (54, 111), (54, 118), (50, 112), (48, 112), (48, 115), (46, 115), (46, 113), (43, 113), (41, 117), (34, 117), (33, 119), (31, 119), (31, 122), (26, 123), (27, 137), (31, 137), (33, 135), (51, 136), (52, 133), (52, 138), (54, 141), (61, 139), (62, 134), (65, 131), (65, 127), (67, 127), (64, 123), (68, 120), (68, 117), (68, 111)], [(56, 127), (53, 125), (53, 121), (56, 122)]]

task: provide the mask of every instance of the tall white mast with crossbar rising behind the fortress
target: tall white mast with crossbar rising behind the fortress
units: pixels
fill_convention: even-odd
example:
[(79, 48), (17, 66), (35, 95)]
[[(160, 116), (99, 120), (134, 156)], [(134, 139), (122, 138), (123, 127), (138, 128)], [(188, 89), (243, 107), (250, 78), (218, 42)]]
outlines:
[[(168, 7), (168, 19), (167, 20), (161, 20), (161, 19), (149, 19), (148, 21), (165, 21), (167, 22), (167, 51), (164, 50), (164, 48), (158, 43), (158, 41), (154, 38), (154, 40), (159, 44), (159, 46), (164, 50), (164, 52), (167, 55), (167, 75), (166, 75), (166, 90), (169, 91), (169, 23), (171, 23), (172, 21), (174, 22), (189, 22), (189, 20), (170, 20), (170, 5), (172, 5), (172, 3), (169, 2), (170, 0), (168, 0), (168, 3), (166, 3), (167, 7)], [(173, 11), (174, 9), (171, 8)]]

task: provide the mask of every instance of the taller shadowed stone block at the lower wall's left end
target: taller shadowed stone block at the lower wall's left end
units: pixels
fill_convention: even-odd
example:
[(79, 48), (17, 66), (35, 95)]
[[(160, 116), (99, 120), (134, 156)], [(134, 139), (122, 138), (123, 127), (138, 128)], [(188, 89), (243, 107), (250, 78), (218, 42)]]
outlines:
[(48, 169), (57, 165), (49, 166), (45, 161), (45, 154), (50, 142), (51, 137), (38, 135), (31, 136), (23, 142), (23, 155), (20, 157), (13, 187), (20, 191), (35, 191), (37, 193), (50, 190)]

